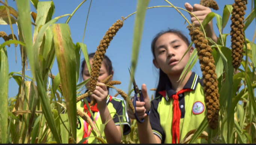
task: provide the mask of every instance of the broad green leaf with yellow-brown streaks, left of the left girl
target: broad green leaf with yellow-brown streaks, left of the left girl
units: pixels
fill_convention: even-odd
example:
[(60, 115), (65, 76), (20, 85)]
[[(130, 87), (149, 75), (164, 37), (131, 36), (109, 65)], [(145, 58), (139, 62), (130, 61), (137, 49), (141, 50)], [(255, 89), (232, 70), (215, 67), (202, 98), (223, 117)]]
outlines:
[(54, 24), (52, 31), (72, 137), (76, 140), (76, 54), (67, 24)]

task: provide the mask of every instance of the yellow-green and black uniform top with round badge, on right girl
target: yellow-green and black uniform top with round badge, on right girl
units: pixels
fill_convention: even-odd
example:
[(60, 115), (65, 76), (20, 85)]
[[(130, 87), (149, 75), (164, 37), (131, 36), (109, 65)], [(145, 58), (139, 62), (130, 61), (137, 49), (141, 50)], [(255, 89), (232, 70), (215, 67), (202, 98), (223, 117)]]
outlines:
[[(184, 89), (192, 89), (179, 95), (180, 118), (180, 141), (193, 129), (197, 129), (206, 115), (204, 102), (203, 80), (194, 72), (190, 76)], [(171, 89), (171, 84), (166, 85), (165, 95), (156, 97), (151, 101), (151, 114), (149, 116), (153, 133), (157, 135), (162, 143), (172, 143), (173, 122), (173, 98), (176, 94)], [(205, 139), (198, 139), (196, 143), (207, 143)]]

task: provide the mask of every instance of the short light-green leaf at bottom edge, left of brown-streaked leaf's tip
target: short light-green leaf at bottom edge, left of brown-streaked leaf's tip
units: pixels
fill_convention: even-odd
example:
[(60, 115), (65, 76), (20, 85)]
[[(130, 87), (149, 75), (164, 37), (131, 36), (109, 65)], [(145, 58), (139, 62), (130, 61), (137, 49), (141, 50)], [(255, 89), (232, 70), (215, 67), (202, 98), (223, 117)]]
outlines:
[[(61, 129), (61, 139), (62, 139), (62, 142), (63, 144), (68, 144), (68, 135), (69, 135), (69, 129), (70, 129), (70, 126), (69, 126), (69, 120), (68, 120), (68, 114), (60, 114), (61, 116), (61, 119), (63, 120), (64, 124), (61, 123), (60, 124), (60, 129)], [(66, 127), (68, 127), (68, 130), (64, 127), (64, 125)]]

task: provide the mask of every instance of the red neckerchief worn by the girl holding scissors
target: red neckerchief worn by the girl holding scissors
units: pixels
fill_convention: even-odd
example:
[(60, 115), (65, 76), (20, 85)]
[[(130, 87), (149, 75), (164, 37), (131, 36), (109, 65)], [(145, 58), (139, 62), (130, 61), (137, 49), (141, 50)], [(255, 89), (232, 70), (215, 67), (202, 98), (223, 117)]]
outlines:
[[(171, 98), (173, 98), (173, 123), (172, 123), (172, 132), (173, 132), (173, 139), (172, 144), (178, 144), (180, 143), (180, 107), (179, 107), (179, 94), (182, 94), (184, 92), (190, 92), (193, 91), (192, 89), (182, 89), (176, 94), (172, 95)], [(161, 91), (159, 94), (163, 95), (165, 97), (166, 91)]]

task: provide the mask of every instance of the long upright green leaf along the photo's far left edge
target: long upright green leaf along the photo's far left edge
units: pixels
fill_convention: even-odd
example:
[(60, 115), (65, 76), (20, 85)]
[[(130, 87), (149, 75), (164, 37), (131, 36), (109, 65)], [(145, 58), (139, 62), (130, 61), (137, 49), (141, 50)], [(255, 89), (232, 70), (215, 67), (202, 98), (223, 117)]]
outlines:
[(7, 49), (4, 47), (0, 50), (0, 132), (2, 143), (7, 141), (7, 127), (8, 127), (8, 82), (9, 82), (9, 67), (7, 58)]

